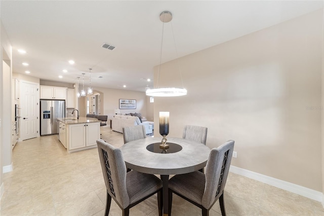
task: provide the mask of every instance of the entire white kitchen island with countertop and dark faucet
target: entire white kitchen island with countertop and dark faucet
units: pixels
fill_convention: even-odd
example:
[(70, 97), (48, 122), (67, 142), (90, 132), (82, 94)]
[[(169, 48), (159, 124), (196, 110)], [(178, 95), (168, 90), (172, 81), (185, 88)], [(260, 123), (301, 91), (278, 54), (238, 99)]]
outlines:
[(58, 118), (59, 140), (68, 153), (96, 148), (100, 139), (100, 120), (87, 117)]

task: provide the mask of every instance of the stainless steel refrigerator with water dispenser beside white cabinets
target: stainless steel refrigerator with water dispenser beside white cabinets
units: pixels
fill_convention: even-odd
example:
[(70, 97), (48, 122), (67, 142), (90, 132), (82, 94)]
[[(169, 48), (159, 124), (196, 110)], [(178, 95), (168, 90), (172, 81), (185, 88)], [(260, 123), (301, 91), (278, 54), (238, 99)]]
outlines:
[(41, 100), (41, 136), (59, 133), (57, 118), (65, 117), (65, 100)]

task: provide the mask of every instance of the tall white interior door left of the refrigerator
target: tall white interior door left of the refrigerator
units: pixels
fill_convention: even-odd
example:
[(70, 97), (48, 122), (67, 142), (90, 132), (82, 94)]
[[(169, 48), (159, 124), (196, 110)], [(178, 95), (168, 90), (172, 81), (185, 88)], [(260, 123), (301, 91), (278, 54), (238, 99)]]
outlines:
[(22, 140), (38, 136), (39, 85), (22, 82), (21, 85), (21, 126)]

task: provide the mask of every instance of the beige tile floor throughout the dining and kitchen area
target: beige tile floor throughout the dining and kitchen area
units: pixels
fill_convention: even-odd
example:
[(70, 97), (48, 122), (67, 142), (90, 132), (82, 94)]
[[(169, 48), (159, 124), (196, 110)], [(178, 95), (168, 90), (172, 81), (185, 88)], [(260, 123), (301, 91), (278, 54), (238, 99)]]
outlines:
[[(116, 147), (123, 135), (101, 127), (102, 138)], [(14, 170), (4, 174), (1, 215), (104, 215), (105, 185), (97, 149), (68, 154), (58, 135), (18, 142)], [(320, 202), (230, 173), (225, 187), (227, 215), (324, 215)], [(156, 197), (130, 210), (158, 215)], [(109, 215), (121, 215), (112, 201)], [(200, 209), (174, 195), (172, 215), (201, 215)], [(219, 203), (210, 215), (221, 215)]]

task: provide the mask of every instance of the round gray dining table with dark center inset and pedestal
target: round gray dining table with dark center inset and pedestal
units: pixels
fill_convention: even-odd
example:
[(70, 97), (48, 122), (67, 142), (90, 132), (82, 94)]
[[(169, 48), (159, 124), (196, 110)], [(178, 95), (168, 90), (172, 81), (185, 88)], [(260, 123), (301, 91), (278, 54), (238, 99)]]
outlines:
[(183, 138), (167, 137), (168, 149), (159, 147), (162, 137), (147, 137), (127, 142), (120, 149), (127, 168), (159, 174), (163, 182), (163, 212), (168, 214), (169, 175), (183, 174), (206, 166), (210, 148)]

